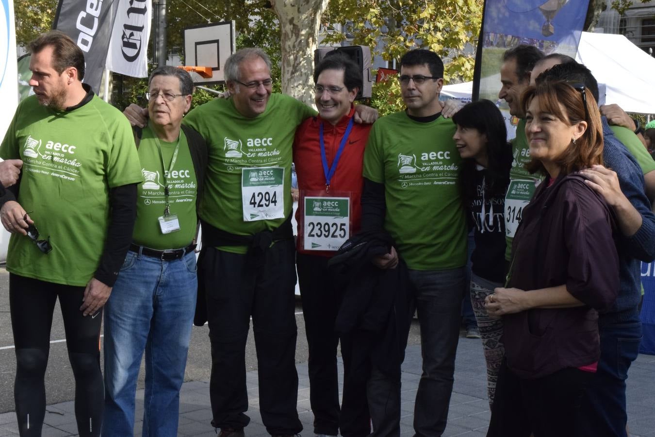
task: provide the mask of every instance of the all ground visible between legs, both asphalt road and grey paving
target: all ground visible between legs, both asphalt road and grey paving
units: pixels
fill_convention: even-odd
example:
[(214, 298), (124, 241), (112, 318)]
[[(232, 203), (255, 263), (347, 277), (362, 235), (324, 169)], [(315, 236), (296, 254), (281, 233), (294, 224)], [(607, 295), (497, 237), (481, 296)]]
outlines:
[[(0, 437), (17, 436), (13, 400), (15, 357), (11, 321), (9, 316), (8, 280), (0, 268)], [(298, 411), (303, 421), (305, 436), (311, 436), (313, 416), (309, 406), (309, 379), (307, 378), (307, 341), (302, 307), (296, 307), (298, 340), (296, 362), (299, 373)], [(179, 436), (214, 436), (210, 426), (209, 401), (209, 339), (206, 326), (194, 327), (189, 348), (189, 359), (185, 373), (185, 384), (181, 391), (179, 415)], [(486, 396), (486, 377), (482, 347), (479, 340), (460, 338), (455, 366), (455, 389), (451, 398), (448, 426), (444, 436), (484, 436), (489, 422), (489, 404)], [(72, 371), (68, 364), (64, 339), (64, 327), (59, 309), (55, 310), (51, 333), (50, 358), (46, 376), (48, 408), (43, 430), (45, 437), (76, 436), (77, 425), (73, 413), (74, 385)], [(402, 373), (402, 420), (403, 435), (413, 434), (413, 408), (416, 389), (421, 375), (421, 349), (419, 329), (415, 320), (409, 333), (409, 346)], [(248, 394), (252, 418), (246, 428), (248, 437), (267, 436), (259, 415), (257, 389), (257, 360), (252, 330), (246, 347), (246, 369), (248, 372)], [(655, 437), (655, 356), (639, 355), (630, 370), (627, 381), (629, 427), (631, 437)], [(140, 375), (143, 388), (143, 367)], [(143, 390), (137, 393), (137, 404), (142, 405)], [(138, 408), (135, 435), (140, 436), (143, 409)], [(127, 436), (126, 436), (127, 437)]]

